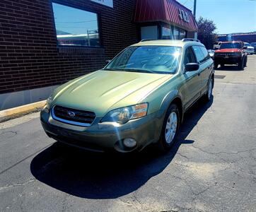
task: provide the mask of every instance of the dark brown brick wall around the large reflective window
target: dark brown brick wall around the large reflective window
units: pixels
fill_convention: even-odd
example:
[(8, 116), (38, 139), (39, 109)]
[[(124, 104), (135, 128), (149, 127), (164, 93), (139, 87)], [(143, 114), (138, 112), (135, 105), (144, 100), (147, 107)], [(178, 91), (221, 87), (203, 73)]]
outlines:
[(0, 93), (64, 83), (100, 69), (136, 42), (134, 0), (114, 0), (114, 8), (89, 0), (56, 0), (99, 13), (103, 48), (57, 47), (50, 0), (0, 1)]

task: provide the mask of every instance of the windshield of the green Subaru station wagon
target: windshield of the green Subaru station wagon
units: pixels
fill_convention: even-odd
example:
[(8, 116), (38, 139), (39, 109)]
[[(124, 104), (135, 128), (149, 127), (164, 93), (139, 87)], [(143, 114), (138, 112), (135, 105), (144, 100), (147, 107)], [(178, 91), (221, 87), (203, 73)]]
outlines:
[(105, 67), (105, 70), (175, 73), (178, 69), (180, 52), (181, 47), (127, 47)]

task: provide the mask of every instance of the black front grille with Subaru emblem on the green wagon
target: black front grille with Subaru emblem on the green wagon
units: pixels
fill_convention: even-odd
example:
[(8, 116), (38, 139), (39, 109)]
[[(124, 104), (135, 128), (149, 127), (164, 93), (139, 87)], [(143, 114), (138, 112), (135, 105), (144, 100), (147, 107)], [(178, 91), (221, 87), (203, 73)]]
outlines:
[(68, 124), (90, 126), (95, 119), (95, 113), (56, 105), (53, 107), (52, 117)]

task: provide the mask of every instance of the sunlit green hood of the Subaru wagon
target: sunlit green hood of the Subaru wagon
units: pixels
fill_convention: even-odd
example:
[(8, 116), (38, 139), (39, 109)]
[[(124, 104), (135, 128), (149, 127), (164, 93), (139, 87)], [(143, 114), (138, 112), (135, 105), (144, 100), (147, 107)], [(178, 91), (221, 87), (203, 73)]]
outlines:
[(127, 71), (95, 71), (57, 88), (52, 105), (95, 112), (135, 105), (173, 75)]

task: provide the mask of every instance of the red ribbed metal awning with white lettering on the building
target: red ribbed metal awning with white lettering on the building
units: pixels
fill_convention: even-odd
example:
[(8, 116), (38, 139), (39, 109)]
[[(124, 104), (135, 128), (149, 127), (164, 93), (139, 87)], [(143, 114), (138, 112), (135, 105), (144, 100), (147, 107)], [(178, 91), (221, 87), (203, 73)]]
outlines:
[(134, 21), (163, 21), (188, 31), (197, 31), (197, 22), (192, 11), (175, 0), (136, 0)]

